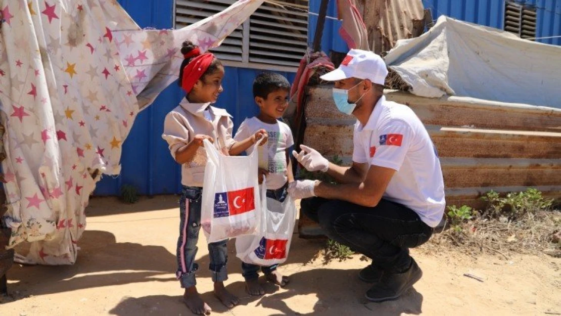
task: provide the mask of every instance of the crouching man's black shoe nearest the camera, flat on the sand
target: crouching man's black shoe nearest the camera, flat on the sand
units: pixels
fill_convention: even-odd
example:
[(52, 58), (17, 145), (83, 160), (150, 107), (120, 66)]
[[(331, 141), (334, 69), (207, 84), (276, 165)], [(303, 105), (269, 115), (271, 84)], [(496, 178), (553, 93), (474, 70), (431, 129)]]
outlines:
[(385, 273), (380, 282), (366, 291), (366, 299), (374, 302), (395, 300), (422, 277), (421, 268), (411, 259), (411, 267), (402, 273)]

